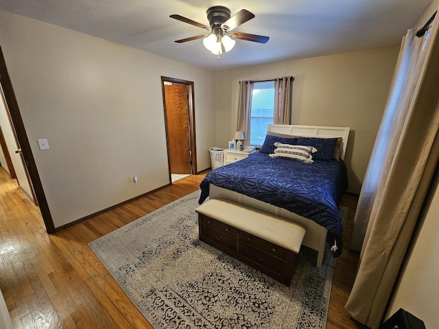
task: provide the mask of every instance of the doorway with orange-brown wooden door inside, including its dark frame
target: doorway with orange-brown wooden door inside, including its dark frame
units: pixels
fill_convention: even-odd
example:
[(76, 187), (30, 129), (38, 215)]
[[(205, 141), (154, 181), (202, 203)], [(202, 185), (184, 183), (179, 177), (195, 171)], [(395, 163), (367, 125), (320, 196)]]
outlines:
[(197, 173), (193, 82), (162, 77), (169, 182)]

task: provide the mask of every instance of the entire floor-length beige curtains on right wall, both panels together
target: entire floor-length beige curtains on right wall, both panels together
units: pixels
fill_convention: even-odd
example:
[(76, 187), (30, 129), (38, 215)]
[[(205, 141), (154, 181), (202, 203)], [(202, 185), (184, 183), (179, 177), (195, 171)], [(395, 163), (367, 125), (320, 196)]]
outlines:
[(378, 328), (439, 158), (438, 19), (407, 32), (362, 187), (354, 235), (364, 241), (346, 310)]

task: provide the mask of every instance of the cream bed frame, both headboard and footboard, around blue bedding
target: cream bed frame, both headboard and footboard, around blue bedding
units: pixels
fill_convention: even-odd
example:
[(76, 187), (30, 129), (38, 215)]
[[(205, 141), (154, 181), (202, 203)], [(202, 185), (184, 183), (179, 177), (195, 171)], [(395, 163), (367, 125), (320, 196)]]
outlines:
[[(342, 159), (344, 158), (344, 154), (346, 153), (349, 130), (350, 127), (322, 127), (316, 125), (268, 125), (269, 132), (276, 132), (279, 134), (320, 138), (342, 137)], [(234, 191), (226, 190), (225, 188), (221, 188), (213, 184), (210, 184), (209, 187), (209, 197), (211, 199), (214, 199), (215, 197), (228, 199), (237, 204), (244, 204), (245, 206), (250, 206), (252, 208), (268, 212), (269, 214), (273, 214), (286, 219), (291, 219), (296, 223), (302, 224), (302, 226), (305, 226), (305, 228), (307, 228), (307, 233), (305, 234), (305, 238), (302, 241), (302, 245), (306, 245), (307, 247), (310, 247), (311, 249), (314, 249), (318, 252), (317, 266), (322, 266), (324, 249), (327, 239), (327, 229), (323, 226), (320, 226), (315, 221), (296, 215), (294, 212), (290, 212), (283, 208), (272, 206), (271, 204), (268, 204), (266, 202), (259, 201), (252, 197), (248, 197)]]

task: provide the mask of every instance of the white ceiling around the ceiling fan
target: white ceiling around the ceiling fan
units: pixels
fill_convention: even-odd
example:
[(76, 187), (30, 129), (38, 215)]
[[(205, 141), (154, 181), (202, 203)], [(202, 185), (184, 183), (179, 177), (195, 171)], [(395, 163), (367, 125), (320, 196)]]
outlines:
[[(396, 45), (432, 0), (0, 0), (0, 10), (32, 17), (122, 45), (212, 70)], [(206, 10), (224, 5), (256, 17), (235, 31), (270, 36), (265, 44), (237, 40), (219, 60), (204, 34), (171, 19), (180, 14), (209, 25)], [(0, 40), (1, 42), (1, 40)]]

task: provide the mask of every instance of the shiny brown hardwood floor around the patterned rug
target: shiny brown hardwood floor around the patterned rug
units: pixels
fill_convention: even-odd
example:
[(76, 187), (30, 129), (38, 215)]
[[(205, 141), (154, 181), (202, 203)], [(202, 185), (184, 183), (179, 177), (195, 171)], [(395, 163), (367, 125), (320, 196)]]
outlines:
[[(12, 326), (19, 328), (152, 328), (88, 247), (88, 243), (198, 190), (191, 175), (146, 197), (47, 234), (38, 207), (0, 168), (0, 289)], [(357, 197), (349, 207), (351, 232)], [(348, 243), (346, 243), (348, 244)], [(327, 328), (365, 328), (344, 310), (358, 254), (347, 246), (337, 259)]]

